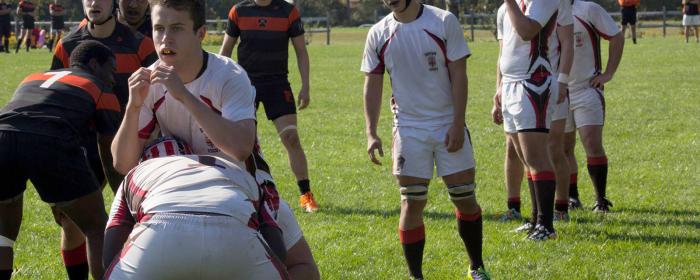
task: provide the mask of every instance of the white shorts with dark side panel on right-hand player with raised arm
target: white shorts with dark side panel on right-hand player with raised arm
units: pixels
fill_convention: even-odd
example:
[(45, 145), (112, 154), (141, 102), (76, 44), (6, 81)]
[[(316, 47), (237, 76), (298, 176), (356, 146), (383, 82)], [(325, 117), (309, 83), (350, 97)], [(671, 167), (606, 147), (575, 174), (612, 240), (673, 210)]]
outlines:
[(503, 83), (503, 129), (507, 133), (549, 132), (558, 95), (559, 83), (552, 76), (541, 86), (526, 81)]

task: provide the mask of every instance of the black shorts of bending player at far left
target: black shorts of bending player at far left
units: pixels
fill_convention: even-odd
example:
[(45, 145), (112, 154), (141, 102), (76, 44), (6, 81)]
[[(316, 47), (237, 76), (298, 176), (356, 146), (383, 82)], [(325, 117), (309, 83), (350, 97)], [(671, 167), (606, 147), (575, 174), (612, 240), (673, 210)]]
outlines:
[(22, 194), (27, 180), (48, 203), (72, 201), (99, 190), (76, 142), (13, 131), (0, 131), (0, 178), (0, 201)]

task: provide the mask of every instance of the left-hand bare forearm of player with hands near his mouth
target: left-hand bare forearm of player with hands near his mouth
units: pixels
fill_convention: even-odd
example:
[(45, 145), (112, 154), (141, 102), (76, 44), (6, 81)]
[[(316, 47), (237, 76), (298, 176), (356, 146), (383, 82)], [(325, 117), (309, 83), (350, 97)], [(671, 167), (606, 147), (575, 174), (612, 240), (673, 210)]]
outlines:
[(129, 172), (141, 157), (143, 147), (138, 132), (139, 113), (140, 108), (126, 106), (124, 119), (112, 141), (112, 164), (121, 174)]

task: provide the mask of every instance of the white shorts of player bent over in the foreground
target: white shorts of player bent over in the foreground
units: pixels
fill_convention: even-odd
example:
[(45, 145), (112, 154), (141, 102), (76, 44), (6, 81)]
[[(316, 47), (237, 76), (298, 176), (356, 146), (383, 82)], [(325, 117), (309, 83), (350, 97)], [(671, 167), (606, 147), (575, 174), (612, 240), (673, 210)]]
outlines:
[(104, 279), (284, 279), (269, 254), (238, 219), (156, 214), (134, 227)]

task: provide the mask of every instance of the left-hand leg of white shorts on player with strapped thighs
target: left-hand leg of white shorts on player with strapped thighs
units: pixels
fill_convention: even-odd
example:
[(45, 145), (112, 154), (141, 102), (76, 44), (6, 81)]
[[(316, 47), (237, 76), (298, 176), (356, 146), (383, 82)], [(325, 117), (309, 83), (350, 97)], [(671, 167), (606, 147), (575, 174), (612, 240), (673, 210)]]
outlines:
[[(433, 177), (435, 165), (435, 143), (431, 137), (432, 132), (429, 130), (395, 127), (392, 145), (393, 174), (429, 181)], [(399, 179), (399, 184), (402, 184), (401, 181)]]

